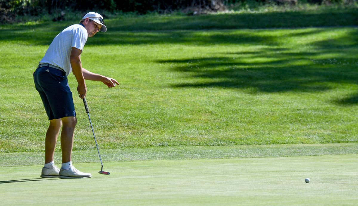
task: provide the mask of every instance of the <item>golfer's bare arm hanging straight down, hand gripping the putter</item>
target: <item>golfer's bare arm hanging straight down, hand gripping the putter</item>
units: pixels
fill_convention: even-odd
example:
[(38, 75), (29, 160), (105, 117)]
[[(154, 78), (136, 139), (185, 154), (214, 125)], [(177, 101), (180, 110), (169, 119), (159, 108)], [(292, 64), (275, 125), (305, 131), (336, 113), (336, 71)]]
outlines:
[(83, 99), (84, 97), (86, 97), (87, 87), (86, 87), (86, 83), (84, 82), (83, 73), (82, 73), (81, 53), (82, 51), (80, 49), (77, 49), (76, 47), (72, 47), (70, 62), (71, 62), (72, 72), (76, 77), (78, 83), (77, 92), (79, 94), (79, 98)]

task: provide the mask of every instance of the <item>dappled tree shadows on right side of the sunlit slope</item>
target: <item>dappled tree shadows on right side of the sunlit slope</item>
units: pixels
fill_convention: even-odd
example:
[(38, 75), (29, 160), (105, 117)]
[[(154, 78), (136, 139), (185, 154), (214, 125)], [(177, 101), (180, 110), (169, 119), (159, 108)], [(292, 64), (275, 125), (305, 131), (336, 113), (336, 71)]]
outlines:
[[(220, 87), (257, 92), (324, 92), (339, 84), (358, 83), (358, 31), (326, 41), (310, 43), (309, 52), (269, 47), (255, 51), (222, 53), (225, 57), (158, 60), (176, 65), (173, 70), (186, 73), (182, 83), (171, 87)], [(322, 58), (322, 55), (328, 58)], [(333, 83), (333, 84), (332, 84)], [(340, 105), (358, 103), (354, 94), (333, 101)]]

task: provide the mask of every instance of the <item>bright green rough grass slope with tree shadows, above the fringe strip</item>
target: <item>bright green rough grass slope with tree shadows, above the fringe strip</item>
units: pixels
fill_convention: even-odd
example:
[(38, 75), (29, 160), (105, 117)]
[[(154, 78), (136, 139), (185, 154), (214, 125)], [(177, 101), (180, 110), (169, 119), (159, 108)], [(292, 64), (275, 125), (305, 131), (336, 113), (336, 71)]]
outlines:
[[(290, 12), (109, 19), (108, 32), (89, 38), (81, 55), (84, 68), (120, 82), (113, 89), (87, 82), (101, 149), (357, 142), (355, 14), (318, 12), (310, 17), (317, 21), (292, 22)], [(272, 21), (277, 15), (285, 18)], [(32, 72), (71, 23), (0, 27), (0, 152), (44, 151), (48, 121)], [(72, 74), (69, 84), (74, 150), (94, 149)]]

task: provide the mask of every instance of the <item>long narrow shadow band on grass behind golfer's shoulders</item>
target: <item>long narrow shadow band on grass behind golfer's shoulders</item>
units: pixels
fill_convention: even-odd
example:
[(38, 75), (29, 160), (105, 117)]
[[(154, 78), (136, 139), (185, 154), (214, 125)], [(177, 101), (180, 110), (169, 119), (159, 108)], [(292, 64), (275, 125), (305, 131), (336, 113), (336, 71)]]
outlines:
[[(2, 31), (1, 41), (12, 41), (20, 44), (49, 45), (53, 38), (64, 28), (55, 31), (49, 30), (23, 30)], [(324, 29), (296, 32), (295, 36), (319, 34)], [(142, 45), (142, 44), (189, 44), (189, 45), (215, 45), (215, 44), (237, 44), (237, 45), (270, 45), (275, 46), (286, 34), (265, 33), (252, 30), (213, 30), (209, 32), (198, 31), (110, 31), (106, 34), (99, 33), (88, 38), (87, 45)]]

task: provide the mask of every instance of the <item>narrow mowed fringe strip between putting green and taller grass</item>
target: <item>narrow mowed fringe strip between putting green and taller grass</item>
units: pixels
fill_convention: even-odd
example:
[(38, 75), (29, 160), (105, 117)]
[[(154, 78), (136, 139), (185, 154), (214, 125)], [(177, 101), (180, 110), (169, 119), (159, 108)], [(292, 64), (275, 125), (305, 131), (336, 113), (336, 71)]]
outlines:
[[(107, 168), (108, 162), (358, 154), (358, 143), (123, 148), (100, 152)], [(43, 152), (0, 154), (0, 167), (40, 165), (44, 161)], [(96, 149), (73, 151), (72, 155), (74, 163), (100, 164)], [(61, 152), (55, 152), (55, 163), (61, 163), (61, 157)]]

